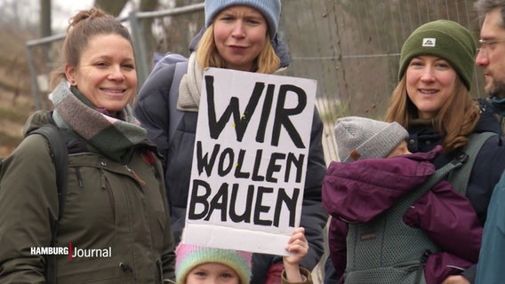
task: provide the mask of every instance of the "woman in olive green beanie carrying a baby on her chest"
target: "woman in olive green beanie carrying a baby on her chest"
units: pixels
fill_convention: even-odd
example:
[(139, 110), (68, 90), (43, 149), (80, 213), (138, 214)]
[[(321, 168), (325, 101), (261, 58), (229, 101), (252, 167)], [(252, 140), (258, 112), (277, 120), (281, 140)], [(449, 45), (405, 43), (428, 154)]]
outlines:
[[(385, 121), (398, 122), (405, 127), (409, 133), (408, 149), (412, 153), (426, 153), (438, 145), (443, 146), (444, 152), (434, 161), (437, 168), (461, 156), (461, 151), (468, 147), (470, 135), (500, 133), (500, 122), (491, 108), (481, 100), (472, 99), (469, 93), (476, 51), (474, 36), (451, 20), (435, 20), (421, 25), (402, 47), (399, 83), (389, 101)], [(468, 156), (469, 161), (475, 162), (469, 163), (469, 172), (461, 173), (469, 179), (453, 187), (465, 193), (480, 224), (485, 224), (494, 185), (505, 169), (505, 147), (501, 146), (499, 135), (493, 135), (485, 138), (479, 151)], [(452, 175), (460, 170), (453, 170)], [(466, 213), (461, 212), (458, 216), (468, 220), (463, 217)], [(446, 237), (451, 238), (450, 235)], [(454, 249), (466, 248), (455, 244)], [(425, 275), (436, 272), (439, 267), (461, 267), (461, 270), (444, 275), (443, 283), (474, 282), (477, 264), (458, 264), (450, 252), (440, 253), (437, 264), (428, 262), (424, 265)]]

